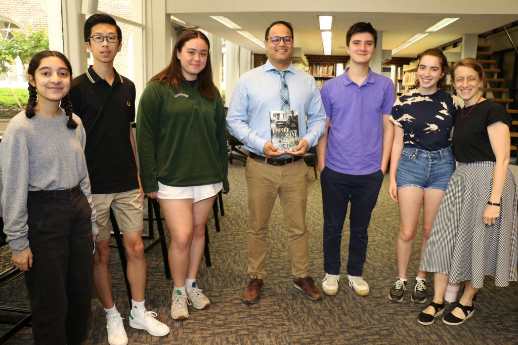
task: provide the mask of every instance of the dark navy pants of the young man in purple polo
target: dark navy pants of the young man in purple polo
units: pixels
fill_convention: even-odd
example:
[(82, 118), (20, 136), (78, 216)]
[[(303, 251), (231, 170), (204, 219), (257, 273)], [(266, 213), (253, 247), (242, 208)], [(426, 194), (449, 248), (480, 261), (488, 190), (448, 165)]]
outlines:
[(362, 276), (369, 241), (367, 228), (372, 210), (378, 201), (382, 182), (381, 170), (369, 175), (342, 174), (328, 167), (322, 170), (320, 183), (324, 210), (324, 269), (328, 274), (340, 274), (342, 229), (350, 201), (351, 236), (347, 273), (351, 276)]

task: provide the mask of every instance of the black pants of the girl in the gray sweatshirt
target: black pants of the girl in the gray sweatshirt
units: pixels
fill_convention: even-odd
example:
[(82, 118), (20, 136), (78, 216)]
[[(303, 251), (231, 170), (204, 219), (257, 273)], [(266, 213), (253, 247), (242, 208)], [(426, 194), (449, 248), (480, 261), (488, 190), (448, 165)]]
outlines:
[(33, 266), (25, 283), (36, 344), (78, 344), (88, 332), (93, 290), (92, 210), (79, 186), (28, 192)]

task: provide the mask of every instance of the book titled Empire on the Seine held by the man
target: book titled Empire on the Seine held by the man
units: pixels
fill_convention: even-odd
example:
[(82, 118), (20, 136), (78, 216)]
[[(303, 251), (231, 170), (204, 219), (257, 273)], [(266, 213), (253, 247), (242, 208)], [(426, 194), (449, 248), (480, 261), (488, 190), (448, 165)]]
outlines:
[(271, 142), (279, 151), (295, 151), (299, 142), (298, 111), (270, 111)]

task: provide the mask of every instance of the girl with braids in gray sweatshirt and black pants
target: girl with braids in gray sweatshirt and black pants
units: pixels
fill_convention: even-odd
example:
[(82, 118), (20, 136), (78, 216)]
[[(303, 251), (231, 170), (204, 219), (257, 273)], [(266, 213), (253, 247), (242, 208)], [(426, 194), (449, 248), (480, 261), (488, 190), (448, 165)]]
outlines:
[(88, 330), (98, 232), (86, 136), (68, 100), (67, 58), (39, 52), (27, 73), (26, 109), (0, 143), (4, 232), (13, 265), (25, 271), (35, 343), (80, 343)]

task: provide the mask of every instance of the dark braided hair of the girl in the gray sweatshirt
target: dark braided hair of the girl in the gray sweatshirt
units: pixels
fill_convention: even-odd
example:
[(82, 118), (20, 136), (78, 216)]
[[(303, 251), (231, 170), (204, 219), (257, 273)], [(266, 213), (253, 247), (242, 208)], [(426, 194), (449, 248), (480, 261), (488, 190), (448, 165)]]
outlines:
[[(45, 57), (49, 56), (55, 56), (59, 57), (68, 68), (68, 71), (70, 73), (70, 79), (72, 78), (72, 66), (70, 65), (70, 62), (66, 58), (65, 55), (60, 53), (59, 51), (53, 51), (53, 50), (44, 50), (40, 51), (39, 53), (35, 54), (31, 62), (29, 62), (29, 65), (27, 67), (27, 74), (30, 75), (33, 80), (36, 80), (35, 74), (36, 70), (39, 67), (39, 64), (41, 63), (41, 60), (43, 60)], [(25, 107), (25, 116), (27, 118), (32, 118), (36, 114), (34, 112), (34, 107), (36, 106), (36, 103), (38, 101), (38, 91), (36, 90), (36, 87), (34, 87), (31, 82), (29, 81), (29, 86), (27, 90), (29, 91), (29, 99), (27, 101), (27, 106)], [(77, 122), (74, 121), (72, 118), (72, 103), (70, 102), (70, 96), (69, 94), (66, 94), (65, 97), (61, 99), (61, 107), (65, 110), (65, 114), (68, 117), (68, 122), (66, 124), (67, 128), (70, 128), (70, 130), (75, 130), (77, 127)]]

